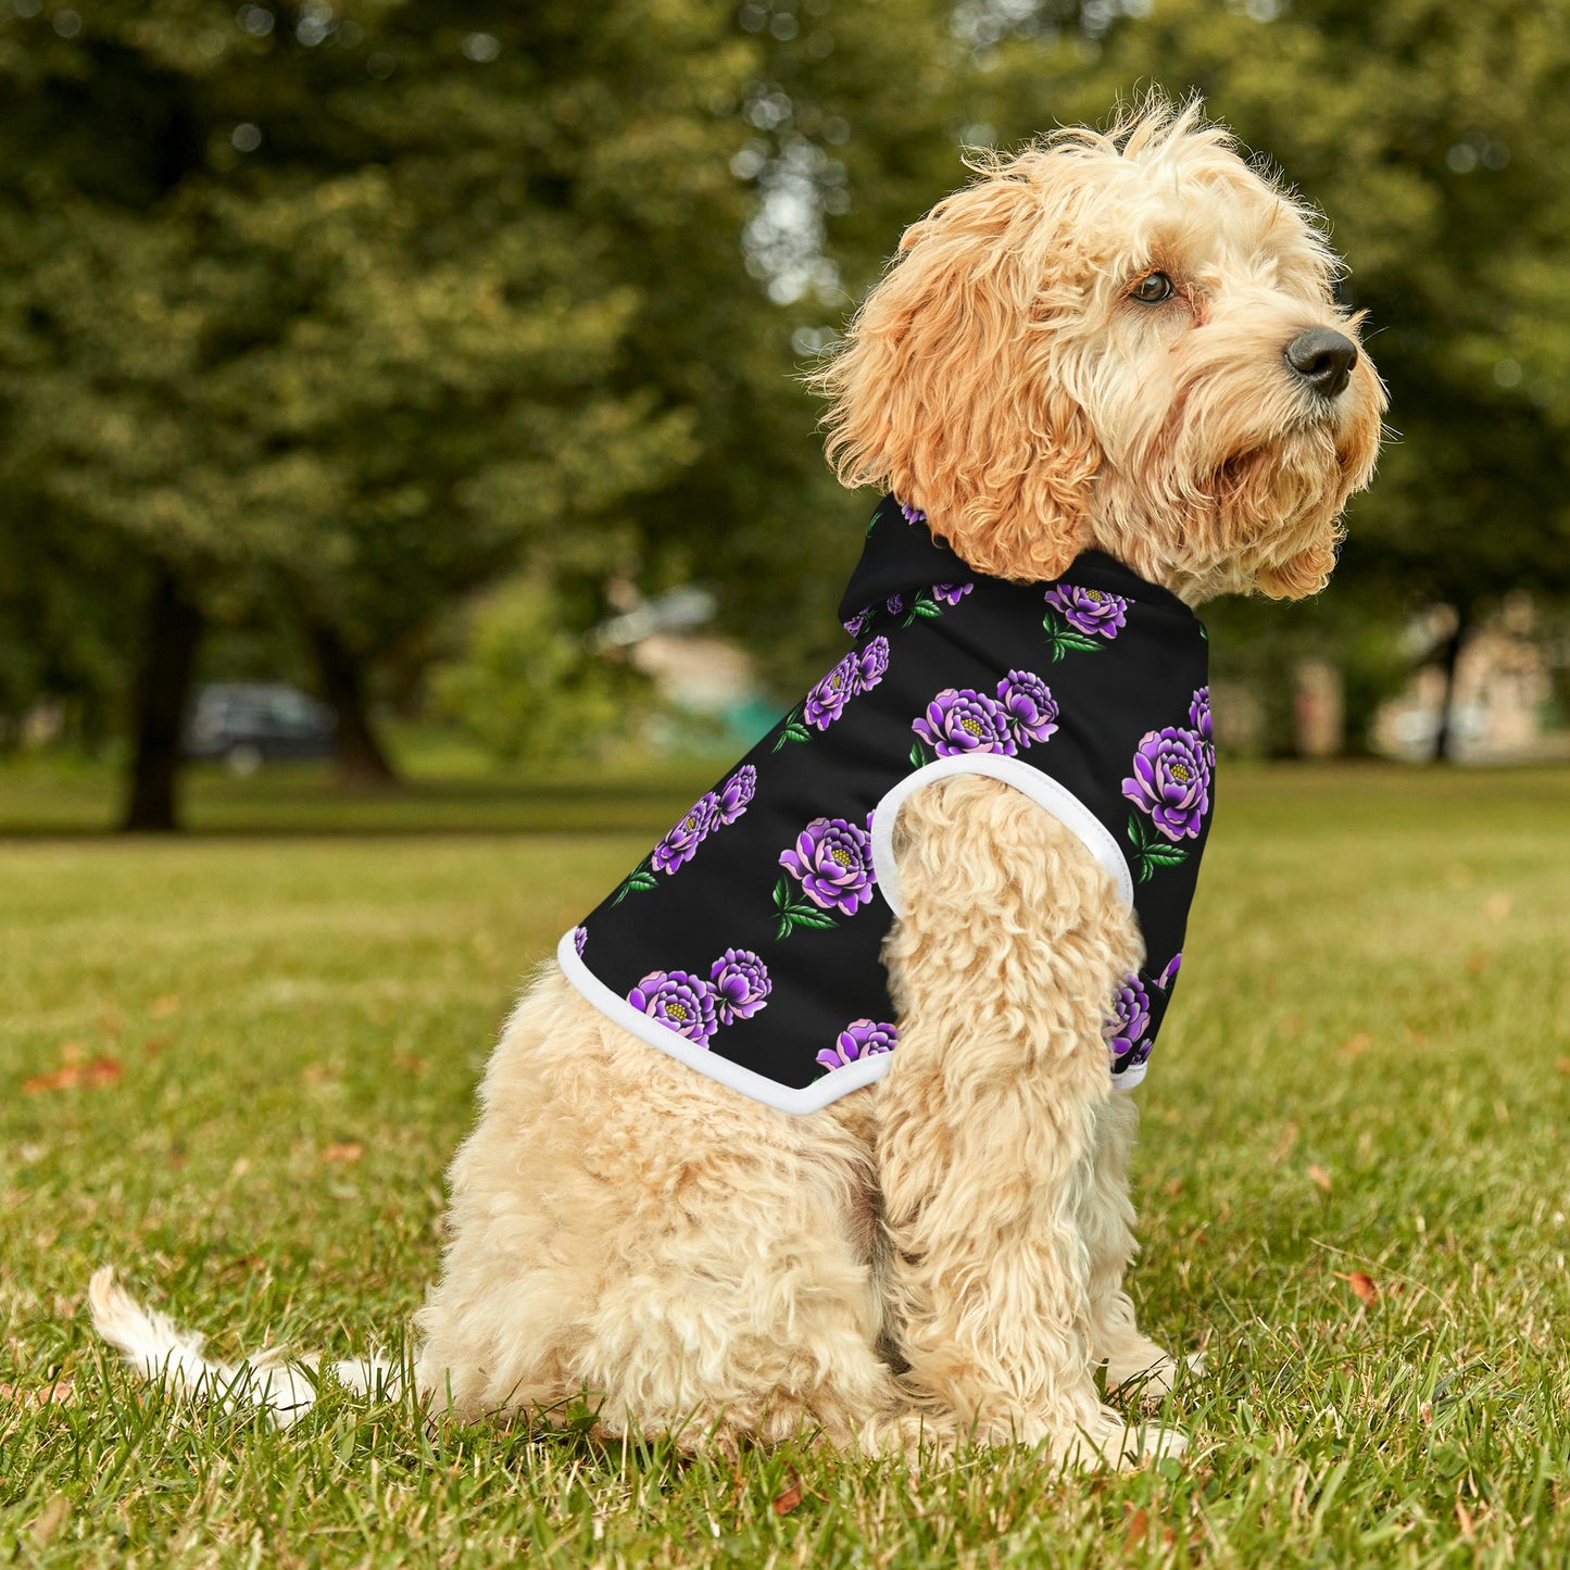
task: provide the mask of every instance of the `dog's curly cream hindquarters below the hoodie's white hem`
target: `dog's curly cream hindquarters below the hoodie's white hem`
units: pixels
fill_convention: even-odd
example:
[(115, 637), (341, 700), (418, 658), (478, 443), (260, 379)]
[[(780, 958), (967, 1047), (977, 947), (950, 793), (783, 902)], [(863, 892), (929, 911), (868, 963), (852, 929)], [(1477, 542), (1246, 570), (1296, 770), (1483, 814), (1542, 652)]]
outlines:
[(421, 1388), (465, 1418), (584, 1400), (606, 1433), (692, 1449), (859, 1443), (896, 1399), (876, 1352), (870, 1094), (774, 1112), (548, 967), (452, 1165)]

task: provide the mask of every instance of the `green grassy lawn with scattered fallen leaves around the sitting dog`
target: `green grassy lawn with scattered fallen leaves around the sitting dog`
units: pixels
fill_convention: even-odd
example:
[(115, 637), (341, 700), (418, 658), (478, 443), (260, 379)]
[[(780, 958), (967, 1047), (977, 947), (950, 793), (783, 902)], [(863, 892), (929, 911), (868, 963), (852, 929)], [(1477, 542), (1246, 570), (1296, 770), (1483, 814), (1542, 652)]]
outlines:
[(0, 779), (0, 1562), (1570, 1562), (1567, 771), (1223, 780), (1138, 1093), (1182, 1463), (733, 1470), (339, 1391), (279, 1435), (104, 1358), (104, 1261), (220, 1355), (396, 1349), (520, 978), (708, 772), (209, 777), (166, 845)]

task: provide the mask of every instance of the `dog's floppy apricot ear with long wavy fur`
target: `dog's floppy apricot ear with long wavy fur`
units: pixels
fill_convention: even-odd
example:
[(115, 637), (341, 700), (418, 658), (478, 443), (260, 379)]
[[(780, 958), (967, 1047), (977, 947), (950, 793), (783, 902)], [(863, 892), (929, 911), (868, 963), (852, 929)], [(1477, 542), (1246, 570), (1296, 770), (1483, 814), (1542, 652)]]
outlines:
[(892, 490), (977, 571), (1024, 581), (1090, 545), (1101, 466), (1049, 308), (1050, 160), (1000, 163), (912, 225), (812, 378), (842, 484)]

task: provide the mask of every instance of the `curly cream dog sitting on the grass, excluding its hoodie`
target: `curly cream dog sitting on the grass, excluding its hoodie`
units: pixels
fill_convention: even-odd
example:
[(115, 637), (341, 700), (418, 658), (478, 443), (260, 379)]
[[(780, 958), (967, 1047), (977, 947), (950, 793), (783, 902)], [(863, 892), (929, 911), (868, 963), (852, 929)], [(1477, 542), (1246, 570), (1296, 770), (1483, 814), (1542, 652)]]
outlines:
[[(1383, 411), (1334, 273), (1313, 217), (1196, 107), (988, 157), (907, 231), (821, 374), (831, 455), (980, 573), (1052, 579), (1094, 548), (1188, 604), (1314, 593)], [(1141, 958), (1132, 912), (997, 779), (920, 790), (895, 854), (898, 1052), (810, 1115), (652, 1050), (542, 970), (451, 1171), (416, 1367), (438, 1408), (589, 1393), (606, 1432), (721, 1449), (1181, 1448), (1094, 1383), (1173, 1374), (1124, 1292), (1137, 1115), (1102, 1014)], [(107, 1272), (94, 1311), (143, 1367), (206, 1367)]]

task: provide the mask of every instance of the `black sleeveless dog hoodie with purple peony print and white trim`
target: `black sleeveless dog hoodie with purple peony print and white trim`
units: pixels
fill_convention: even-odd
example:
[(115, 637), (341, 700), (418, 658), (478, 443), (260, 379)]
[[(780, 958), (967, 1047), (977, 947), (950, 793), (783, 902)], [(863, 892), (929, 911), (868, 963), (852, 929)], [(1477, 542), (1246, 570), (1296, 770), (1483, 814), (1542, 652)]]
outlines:
[[(1146, 964), (1107, 1000), (1113, 1082), (1145, 1077), (1215, 796), (1206, 633), (1101, 551), (1053, 582), (973, 573), (885, 496), (840, 617), (856, 647), (576, 928), (557, 959), (650, 1046), (782, 1112), (881, 1079), (881, 961), (911, 791), (986, 774), (1083, 840)], [(1000, 848), (1005, 849), (1005, 848)]]

